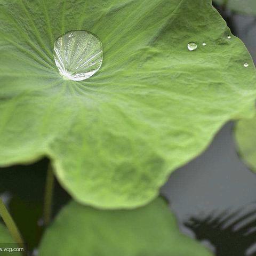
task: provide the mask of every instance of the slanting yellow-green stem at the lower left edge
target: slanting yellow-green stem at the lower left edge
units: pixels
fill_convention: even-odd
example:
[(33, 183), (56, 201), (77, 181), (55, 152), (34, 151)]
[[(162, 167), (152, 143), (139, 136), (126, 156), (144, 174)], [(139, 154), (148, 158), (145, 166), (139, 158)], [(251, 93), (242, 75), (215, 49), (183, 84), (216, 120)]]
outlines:
[(25, 247), (22, 236), (20, 234), (19, 229), (17, 228), (14, 220), (12, 219), (10, 213), (8, 212), (3, 199), (0, 198), (0, 215), (4, 220), (4, 223), (7, 227), (7, 229), (9, 230), (12, 238), (14, 239), (14, 241), (19, 244), (20, 247)]

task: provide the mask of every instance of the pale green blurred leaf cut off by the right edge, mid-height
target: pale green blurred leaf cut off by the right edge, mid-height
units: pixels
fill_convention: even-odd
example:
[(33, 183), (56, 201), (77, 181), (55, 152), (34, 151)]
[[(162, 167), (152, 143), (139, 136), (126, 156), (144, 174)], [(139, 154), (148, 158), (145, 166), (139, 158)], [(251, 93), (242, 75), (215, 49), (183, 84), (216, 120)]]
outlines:
[(256, 116), (237, 123), (235, 138), (239, 155), (256, 172)]

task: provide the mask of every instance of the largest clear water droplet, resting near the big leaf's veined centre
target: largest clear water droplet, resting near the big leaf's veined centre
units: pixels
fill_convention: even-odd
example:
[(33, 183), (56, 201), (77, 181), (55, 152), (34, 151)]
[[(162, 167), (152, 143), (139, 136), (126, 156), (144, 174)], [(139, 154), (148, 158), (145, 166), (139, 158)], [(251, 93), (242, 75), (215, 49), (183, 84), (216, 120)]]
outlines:
[(82, 81), (100, 69), (102, 43), (89, 31), (69, 31), (56, 39), (54, 60), (62, 76)]

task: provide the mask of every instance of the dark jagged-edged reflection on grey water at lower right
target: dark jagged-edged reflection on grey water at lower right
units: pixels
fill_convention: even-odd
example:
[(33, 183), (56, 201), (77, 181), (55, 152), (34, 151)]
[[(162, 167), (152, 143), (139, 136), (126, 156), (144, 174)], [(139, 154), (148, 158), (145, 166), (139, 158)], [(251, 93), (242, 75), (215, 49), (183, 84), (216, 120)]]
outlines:
[(184, 225), (199, 241), (209, 241), (217, 256), (256, 255), (256, 207), (247, 213), (239, 209), (190, 217)]

